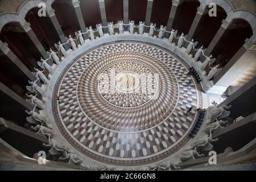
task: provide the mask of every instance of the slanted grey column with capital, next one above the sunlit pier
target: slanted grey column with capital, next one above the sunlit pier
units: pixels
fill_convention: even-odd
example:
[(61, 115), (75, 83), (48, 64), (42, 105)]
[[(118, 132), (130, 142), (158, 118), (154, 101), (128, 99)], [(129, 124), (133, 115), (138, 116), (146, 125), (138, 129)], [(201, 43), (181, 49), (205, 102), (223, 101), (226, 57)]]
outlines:
[(229, 24), (230, 23), (226, 19), (222, 20), (221, 27), (218, 29), (216, 35), (212, 39), (212, 42), (210, 42), (210, 44), (207, 48), (207, 51), (205, 52), (206, 56), (209, 56), (210, 53), (213, 51), (214, 47), (217, 45), (217, 43), (221, 39), (222, 35), (226, 31), (226, 29), (229, 27)]

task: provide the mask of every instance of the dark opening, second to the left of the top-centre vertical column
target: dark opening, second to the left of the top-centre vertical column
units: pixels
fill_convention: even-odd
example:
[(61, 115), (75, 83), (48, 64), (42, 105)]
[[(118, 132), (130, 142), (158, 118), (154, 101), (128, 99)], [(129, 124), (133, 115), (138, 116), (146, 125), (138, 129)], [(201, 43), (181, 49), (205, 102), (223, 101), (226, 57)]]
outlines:
[(84, 18), (86, 27), (95, 27), (96, 24), (101, 23), (101, 12), (100, 6), (98, 5), (98, 1), (80, 1), (80, 8), (82, 11), (82, 17)]

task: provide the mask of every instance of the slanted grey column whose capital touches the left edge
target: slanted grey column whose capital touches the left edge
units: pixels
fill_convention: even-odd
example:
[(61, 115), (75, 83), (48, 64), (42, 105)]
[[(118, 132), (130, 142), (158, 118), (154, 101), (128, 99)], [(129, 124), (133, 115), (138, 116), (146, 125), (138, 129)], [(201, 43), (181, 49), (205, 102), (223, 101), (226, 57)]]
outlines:
[(3, 43), (0, 40), (1, 51), (18, 67), (30, 80), (35, 81), (36, 77), (31, 73), (31, 71), (19, 60), (19, 58), (11, 51), (8, 44)]

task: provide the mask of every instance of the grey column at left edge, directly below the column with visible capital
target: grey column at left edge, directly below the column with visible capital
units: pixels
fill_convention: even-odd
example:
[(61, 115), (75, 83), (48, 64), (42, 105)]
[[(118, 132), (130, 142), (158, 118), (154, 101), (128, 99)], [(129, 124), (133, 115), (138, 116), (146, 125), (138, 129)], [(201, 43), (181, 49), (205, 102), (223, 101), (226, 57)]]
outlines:
[(11, 97), (13, 100), (18, 102), (23, 107), (26, 107), (26, 109), (33, 110), (34, 106), (29, 104), (26, 100), (24, 100), (22, 97), (20, 97), (18, 94), (13, 92), (13, 90), (9, 89), (7, 86), (5, 86), (2, 82), (0, 82), (0, 91), (6, 94), (6, 96)]

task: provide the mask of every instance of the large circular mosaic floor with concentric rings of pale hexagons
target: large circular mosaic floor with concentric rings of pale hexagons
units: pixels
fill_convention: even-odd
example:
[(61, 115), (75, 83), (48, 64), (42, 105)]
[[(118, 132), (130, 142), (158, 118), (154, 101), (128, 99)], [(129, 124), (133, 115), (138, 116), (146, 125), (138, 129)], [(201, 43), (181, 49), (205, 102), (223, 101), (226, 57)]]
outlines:
[(56, 84), (57, 126), (73, 147), (100, 162), (127, 166), (166, 158), (187, 142), (201, 106), (187, 72), (175, 55), (150, 44), (94, 48)]

